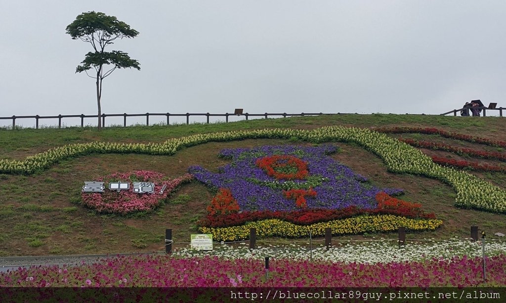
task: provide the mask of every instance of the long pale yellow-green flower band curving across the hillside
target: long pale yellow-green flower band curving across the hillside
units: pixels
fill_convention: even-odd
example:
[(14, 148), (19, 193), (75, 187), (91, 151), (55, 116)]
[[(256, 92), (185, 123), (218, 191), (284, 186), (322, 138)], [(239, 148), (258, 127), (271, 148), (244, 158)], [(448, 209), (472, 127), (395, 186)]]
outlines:
[(365, 128), (326, 126), (312, 131), (298, 129), (259, 129), (213, 134), (197, 134), (167, 140), (163, 143), (126, 144), (93, 142), (71, 144), (54, 148), (23, 161), (0, 160), (0, 172), (7, 174), (33, 174), (59, 161), (93, 153), (142, 153), (173, 155), (178, 150), (207, 142), (236, 141), (243, 139), (289, 139), (324, 143), (329, 141), (356, 142), (382, 158), (393, 172), (419, 174), (439, 179), (457, 192), (455, 205), (506, 213), (506, 191), (465, 171), (443, 167), (419, 150), (385, 134)]

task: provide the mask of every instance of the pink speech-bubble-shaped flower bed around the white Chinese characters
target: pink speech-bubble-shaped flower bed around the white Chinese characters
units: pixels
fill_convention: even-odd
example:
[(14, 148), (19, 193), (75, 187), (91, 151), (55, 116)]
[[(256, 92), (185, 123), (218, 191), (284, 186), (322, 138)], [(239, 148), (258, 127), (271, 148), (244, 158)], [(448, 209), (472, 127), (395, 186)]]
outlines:
[[(82, 204), (90, 208), (96, 209), (99, 212), (127, 214), (135, 211), (151, 210), (158, 206), (176, 187), (184, 182), (189, 182), (193, 179), (193, 175), (185, 174), (179, 178), (168, 180), (162, 174), (154, 171), (137, 170), (127, 173), (116, 173), (103, 178), (98, 178), (95, 181), (104, 182), (106, 189), (103, 193), (82, 193)], [(130, 189), (109, 190), (109, 182), (152, 182), (155, 184), (154, 193), (134, 193), (132, 184)], [(166, 186), (163, 193), (160, 190)]]

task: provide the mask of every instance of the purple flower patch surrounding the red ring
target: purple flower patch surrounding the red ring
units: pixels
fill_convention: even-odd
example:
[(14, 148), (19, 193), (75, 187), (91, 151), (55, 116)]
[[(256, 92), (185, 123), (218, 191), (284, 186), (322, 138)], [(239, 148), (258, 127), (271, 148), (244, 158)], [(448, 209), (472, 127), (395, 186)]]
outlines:
[[(384, 191), (389, 195), (402, 193), (401, 189), (379, 189), (367, 183), (367, 179), (355, 174), (349, 167), (328, 155), (337, 147), (322, 145), (263, 146), (260, 148), (224, 149), (219, 157), (229, 158), (231, 163), (219, 167), (218, 173), (200, 166), (188, 171), (195, 179), (214, 188), (228, 188), (244, 211), (297, 210), (293, 200), (283, 195), (283, 190), (309, 189), (316, 197), (307, 197), (307, 208), (338, 209), (351, 205), (376, 208), (375, 196)], [(309, 174), (304, 180), (276, 180), (256, 165), (257, 159), (272, 155), (292, 155), (308, 163)]]

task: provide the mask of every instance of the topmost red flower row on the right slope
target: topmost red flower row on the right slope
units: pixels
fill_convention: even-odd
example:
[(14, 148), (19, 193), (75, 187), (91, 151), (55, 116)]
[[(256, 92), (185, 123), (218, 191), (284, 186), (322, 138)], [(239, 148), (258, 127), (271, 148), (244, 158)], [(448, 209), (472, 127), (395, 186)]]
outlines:
[(433, 127), (378, 127), (373, 128), (374, 131), (378, 133), (388, 133), (388, 134), (406, 134), (406, 133), (419, 133), (419, 134), (428, 134), (428, 135), (440, 135), (445, 138), (481, 143), (491, 146), (504, 147), (506, 148), (506, 142), (491, 140), (487, 138), (475, 137), (470, 135), (457, 134), (454, 132), (443, 131), (442, 129), (433, 128)]

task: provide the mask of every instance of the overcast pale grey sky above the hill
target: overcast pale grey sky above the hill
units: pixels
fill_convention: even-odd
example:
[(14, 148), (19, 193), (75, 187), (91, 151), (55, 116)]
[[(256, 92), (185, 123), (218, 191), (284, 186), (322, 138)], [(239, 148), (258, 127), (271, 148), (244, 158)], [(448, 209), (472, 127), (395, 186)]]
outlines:
[(106, 49), (141, 64), (104, 80), (106, 114), (506, 106), (505, 1), (20, 0), (0, 4), (0, 116), (96, 114), (91, 46), (65, 33), (88, 11), (140, 32)]

